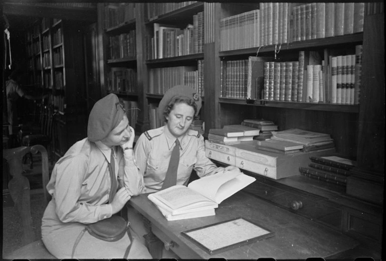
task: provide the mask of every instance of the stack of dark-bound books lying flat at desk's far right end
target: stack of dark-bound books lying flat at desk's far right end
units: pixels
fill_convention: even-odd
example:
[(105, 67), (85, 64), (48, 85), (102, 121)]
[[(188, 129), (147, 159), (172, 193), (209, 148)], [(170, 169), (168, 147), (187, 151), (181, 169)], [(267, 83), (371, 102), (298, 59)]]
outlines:
[(299, 167), (300, 175), (343, 187), (346, 186), (347, 177), (351, 176), (350, 170), (355, 164), (337, 156), (310, 156), (310, 161), (307, 167)]

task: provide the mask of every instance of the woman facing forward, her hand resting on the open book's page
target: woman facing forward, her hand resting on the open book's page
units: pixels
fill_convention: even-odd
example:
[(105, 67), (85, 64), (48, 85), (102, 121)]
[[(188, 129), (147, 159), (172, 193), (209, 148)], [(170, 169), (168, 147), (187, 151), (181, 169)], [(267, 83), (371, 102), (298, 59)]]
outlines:
[[(166, 125), (143, 133), (135, 144), (135, 159), (143, 175), (146, 193), (156, 192), (172, 185), (187, 185), (192, 170), (201, 177), (225, 171), (240, 171), (235, 166), (217, 167), (205, 156), (205, 143), (198, 131), (189, 129), (192, 120), (200, 112), (201, 97), (191, 87), (174, 86), (166, 91), (158, 106), (158, 116)], [(173, 151), (179, 152), (173, 162)], [(172, 165), (175, 165), (174, 167)], [(169, 169), (176, 169), (176, 177), (170, 179)], [(134, 209), (129, 209), (130, 220), (141, 223)], [(134, 221), (132, 221), (134, 224)], [(148, 224), (133, 225), (138, 234), (147, 234)], [(142, 222), (143, 223), (143, 222)], [(165, 256), (167, 257), (165, 253)], [(175, 256), (171, 256), (175, 257)]]

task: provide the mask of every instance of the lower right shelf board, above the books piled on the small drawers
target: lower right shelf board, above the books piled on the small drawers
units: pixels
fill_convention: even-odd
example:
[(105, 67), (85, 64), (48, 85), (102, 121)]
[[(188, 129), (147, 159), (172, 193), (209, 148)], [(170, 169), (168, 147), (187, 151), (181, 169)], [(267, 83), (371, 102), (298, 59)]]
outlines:
[(345, 104), (329, 104), (329, 103), (309, 103), (309, 102), (292, 102), (292, 101), (275, 101), (275, 100), (255, 100), (253, 103), (247, 103), (246, 99), (236, 98), (219, 98), (220, 103), (224, 104), (240, 104), (250, 106), (265, 106), (288, 109), (306, 109), (306, 110), (321, 110), (321, 111), (336, 111), (358, 113), (358, 105)]

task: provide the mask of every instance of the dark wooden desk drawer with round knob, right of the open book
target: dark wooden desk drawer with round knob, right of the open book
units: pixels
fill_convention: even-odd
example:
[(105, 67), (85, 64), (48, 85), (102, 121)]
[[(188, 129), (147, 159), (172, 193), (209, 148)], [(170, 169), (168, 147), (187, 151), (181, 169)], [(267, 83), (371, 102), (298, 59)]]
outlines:
[(311, 194), (288, 191), (259, 181), (248, 186), (247, 191), (293, 213), (338, 230), (342, 229), (343, 213), (338, 204)]

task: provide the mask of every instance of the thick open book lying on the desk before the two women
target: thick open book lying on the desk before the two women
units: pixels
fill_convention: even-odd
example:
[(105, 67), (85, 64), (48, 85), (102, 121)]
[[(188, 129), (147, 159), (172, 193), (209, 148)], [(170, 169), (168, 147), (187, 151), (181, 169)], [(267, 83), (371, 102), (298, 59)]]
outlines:
[(167, 220), (213, 216), (225, 199), (256, 179), (242, 172), (225, 173), (197, 179), (187, 187), (175, 185), (148, 195)]

